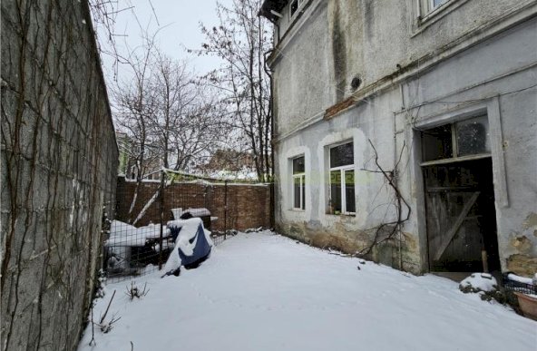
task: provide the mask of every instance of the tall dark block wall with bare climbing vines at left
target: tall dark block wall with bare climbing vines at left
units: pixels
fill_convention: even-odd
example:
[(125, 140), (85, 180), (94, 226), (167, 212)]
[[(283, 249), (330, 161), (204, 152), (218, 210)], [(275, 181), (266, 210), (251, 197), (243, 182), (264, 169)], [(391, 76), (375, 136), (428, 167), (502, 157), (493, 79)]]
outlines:
[(118, 151), (86, 1), (2, 1), (2, 350), (73, 350)]

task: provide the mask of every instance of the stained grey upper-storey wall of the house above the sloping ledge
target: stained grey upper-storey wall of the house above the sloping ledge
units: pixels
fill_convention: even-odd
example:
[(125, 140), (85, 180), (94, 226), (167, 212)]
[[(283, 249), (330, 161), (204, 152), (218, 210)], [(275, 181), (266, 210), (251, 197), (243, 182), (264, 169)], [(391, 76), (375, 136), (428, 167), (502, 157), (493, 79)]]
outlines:
[[(288, 24), (270, 64), (275, 73), (277, 135), (292, 132), (332, 104), (416, 73), (520, 18), (535, 14), (534, 0), (452, 0), (442, 11), (418, 19), (426, 0), (310, 0)], [(519, 18), (520, 17), (520, 18)], [(355, 91), (354, 77), (362, 81)]]

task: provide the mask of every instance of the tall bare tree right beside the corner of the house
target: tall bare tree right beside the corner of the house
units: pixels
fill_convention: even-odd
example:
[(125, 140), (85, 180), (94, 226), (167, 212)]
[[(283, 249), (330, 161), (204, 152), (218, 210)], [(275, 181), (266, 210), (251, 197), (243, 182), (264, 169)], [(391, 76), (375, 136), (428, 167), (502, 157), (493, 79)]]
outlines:
[(229, 122), (246, 139), (260, 181), (271, 174), (271, 111), (269, 74), (264, 54), (269, 51), (269, 26), (258, 16), (260, 0), (234, 0), (228, 8), (217, 3), (218, 26), (201, 25), (206, 36), (199, 54), (223, 59), (220, 69), (204, 78), (220, 90)]

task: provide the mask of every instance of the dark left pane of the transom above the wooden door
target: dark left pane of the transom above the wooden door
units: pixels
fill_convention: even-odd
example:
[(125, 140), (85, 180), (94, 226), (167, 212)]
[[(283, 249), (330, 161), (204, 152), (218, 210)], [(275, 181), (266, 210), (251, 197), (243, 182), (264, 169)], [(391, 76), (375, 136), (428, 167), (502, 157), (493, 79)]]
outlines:
[(451, 124), (422, 132), (424, 161), (436, 161), (453, 157)]

